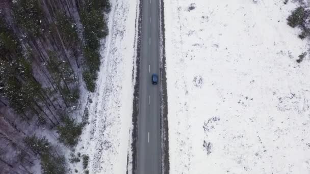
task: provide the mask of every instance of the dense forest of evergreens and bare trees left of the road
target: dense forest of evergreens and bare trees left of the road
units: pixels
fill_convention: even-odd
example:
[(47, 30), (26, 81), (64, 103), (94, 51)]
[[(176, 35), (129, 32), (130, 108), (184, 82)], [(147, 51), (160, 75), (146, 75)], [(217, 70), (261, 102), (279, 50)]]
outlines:
[(95, 90), (110, 10), (109, 0), (0, 1), (0, 173), (68, 173), (80, 160), (59, 147), (74, 148), (87, 124), (72, 109)]

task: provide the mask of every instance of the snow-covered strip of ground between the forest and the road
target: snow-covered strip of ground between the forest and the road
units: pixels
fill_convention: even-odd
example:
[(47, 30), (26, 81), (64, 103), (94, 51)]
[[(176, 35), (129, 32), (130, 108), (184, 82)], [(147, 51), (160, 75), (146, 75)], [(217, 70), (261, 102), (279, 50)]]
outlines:
[[(102, 40), (97, 89), (89, 97), (89, 125), (75, 153), (89, 155), (89, 173), (126, 173), (130, 150), (137, 1), (112, 1), (110, 34)], [(130, 153), (130, 152), (129, 152)], [(131, 157), (131, 156), (130, 156)], [(82, 170), (82, 163), (71, 168)]]

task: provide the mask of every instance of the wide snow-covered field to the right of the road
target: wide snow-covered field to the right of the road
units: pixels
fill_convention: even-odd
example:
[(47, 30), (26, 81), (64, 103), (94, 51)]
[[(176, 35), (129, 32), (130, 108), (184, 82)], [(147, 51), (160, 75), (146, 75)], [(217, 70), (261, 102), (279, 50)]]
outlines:
[(165, 1), (170, 173), (310, 173), (310, 61), (284, 0)]

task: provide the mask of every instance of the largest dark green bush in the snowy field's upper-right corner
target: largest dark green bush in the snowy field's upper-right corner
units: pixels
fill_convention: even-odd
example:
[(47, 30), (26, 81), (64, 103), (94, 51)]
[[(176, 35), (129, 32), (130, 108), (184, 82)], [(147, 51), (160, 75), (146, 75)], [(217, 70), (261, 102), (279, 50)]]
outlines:
[(302, 25), (306, 18), (306, 11), (303, 7), (296, 8), (292, 14), (288, 17), (288, 24), (292, 27)]

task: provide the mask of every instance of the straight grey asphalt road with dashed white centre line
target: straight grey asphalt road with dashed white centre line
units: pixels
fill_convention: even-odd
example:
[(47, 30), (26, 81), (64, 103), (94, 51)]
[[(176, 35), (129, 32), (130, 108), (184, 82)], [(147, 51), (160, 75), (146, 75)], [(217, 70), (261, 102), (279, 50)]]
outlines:
[[(139, 80), (139, 120), (137, 173), (161, 173), (160, 88), (151, 83), (159, 75), (159, 0), (141, 0), (141, 60)], [(161, 83), (159, 78), (159, 83)]]

